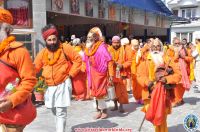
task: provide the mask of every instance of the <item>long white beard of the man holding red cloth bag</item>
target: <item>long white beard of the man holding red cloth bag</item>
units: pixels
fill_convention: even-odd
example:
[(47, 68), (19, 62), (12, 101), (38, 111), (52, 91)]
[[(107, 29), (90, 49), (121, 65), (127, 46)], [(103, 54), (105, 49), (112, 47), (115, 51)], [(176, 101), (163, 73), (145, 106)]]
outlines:
[(152, 60), (153, 60), (154, 64), (156, 65), (156, 67), (164, 64), (164, 61), (163, 61), (163, 52), (152, 51), (151, 52), (151, 56), (152, 56)]

